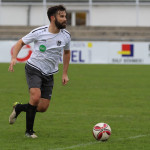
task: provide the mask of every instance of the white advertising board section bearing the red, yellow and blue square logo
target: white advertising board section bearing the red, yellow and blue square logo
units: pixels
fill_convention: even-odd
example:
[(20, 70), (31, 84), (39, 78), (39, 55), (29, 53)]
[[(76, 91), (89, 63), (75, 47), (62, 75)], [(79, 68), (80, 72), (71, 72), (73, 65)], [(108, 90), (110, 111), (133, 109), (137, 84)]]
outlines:
[(149, 43), (110, 42), (110, 64), (150, 64)]

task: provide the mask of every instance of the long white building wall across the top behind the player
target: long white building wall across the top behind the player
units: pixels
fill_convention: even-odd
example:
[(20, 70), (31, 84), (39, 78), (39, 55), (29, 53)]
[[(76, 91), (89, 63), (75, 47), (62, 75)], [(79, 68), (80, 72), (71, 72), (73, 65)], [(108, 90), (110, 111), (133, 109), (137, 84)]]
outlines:
[[(49, 5), (50, 6), (50, 5)], [(88, 5), (67, 5), (72, 12), (85, 11), (89, 16)], [(92, 26), (150, 26), (150, 5), (140, 5), (139, 13), (136, 5), (93, 5), (91, 11)], [(0, 25), (27, 25), (28, 5), (0, 6)], [(45, 16), (45, 18), (44, 18)], [(87, 17), (87, 19), (89, 19)], [(48, 24), (46, 10), (42, 5), (32, 5), (30, 11), (30, 25)], [(89, 22), (89, 20), (87, 21)]]

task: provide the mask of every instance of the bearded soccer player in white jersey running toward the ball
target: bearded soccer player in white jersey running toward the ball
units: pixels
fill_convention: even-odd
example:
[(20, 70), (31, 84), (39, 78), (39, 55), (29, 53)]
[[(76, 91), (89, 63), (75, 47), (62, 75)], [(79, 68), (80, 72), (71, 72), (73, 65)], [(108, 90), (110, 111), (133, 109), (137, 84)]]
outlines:
[(15, 102), (9, 117), (14, 124), (18, 115), (26, 112), (25, 135), (37, 138), (33, 130), (36, 112), (45, 112), (49, 107), (54, 85), (53, 74), (58, 72), (60, 57), (63, 55), (62, 84), (69, 81), (67, 71), (70, 61), (71, 37), (66, 28), (66, 9), (64, 6), (53, 6), (47, 11), (49, 25), (32, 30), (20, 39), (14, 48), (9, 71), (13, 72), (16, 58), (25, 44), (34, 42), (34, 50), (25, 65), (26, 80), (29, 87), (30, 100), (27, 104)]

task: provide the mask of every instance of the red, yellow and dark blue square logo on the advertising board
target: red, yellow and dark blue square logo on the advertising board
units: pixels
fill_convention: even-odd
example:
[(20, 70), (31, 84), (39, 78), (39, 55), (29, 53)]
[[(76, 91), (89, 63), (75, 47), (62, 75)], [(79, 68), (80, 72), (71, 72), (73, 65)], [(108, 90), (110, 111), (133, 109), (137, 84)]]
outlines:
[(134, 45), (133, 44), (122, 44), (122, 50), (118, 52), (122, 57), (133, 57)]

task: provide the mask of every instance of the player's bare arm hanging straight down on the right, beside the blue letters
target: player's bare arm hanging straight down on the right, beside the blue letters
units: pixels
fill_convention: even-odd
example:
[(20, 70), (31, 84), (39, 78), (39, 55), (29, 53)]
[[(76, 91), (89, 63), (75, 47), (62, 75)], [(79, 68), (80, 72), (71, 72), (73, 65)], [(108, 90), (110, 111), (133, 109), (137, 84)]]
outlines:
[(70, 62), (70, 50), (64, 50), (63, 53), (63, 75), (62, 75), (62, 84), (66, 85), (69, 81), (68, 78), (68, 67)]

